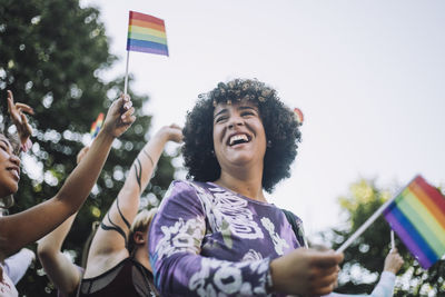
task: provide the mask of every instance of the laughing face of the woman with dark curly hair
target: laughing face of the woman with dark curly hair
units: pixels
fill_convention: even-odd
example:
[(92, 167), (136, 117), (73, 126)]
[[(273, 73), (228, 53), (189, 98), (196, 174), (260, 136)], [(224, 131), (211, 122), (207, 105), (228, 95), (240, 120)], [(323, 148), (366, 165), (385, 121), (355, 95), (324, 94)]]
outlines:
[(214, 148), (221, 170), (263, 167), (266, 132), (258, 107), (250, 101), (218, 103), (214, 110)]

